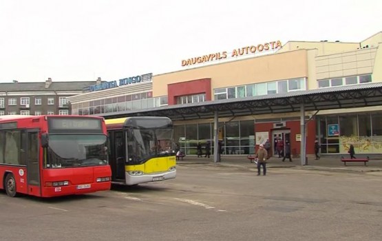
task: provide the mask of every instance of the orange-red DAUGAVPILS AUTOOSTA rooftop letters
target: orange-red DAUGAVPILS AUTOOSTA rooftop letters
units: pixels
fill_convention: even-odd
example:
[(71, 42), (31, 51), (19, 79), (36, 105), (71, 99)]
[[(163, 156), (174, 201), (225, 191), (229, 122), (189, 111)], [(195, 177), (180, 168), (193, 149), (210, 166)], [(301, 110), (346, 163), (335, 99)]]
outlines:
[(272, 41), (269, 43), (259, 44), (257, 46), (251, 45), (244, 48), (234, 49), (232, 50), (231, 56), (229, 56), (226, 51), (223, 51), (214, 54), (206, 54), (191, 59), (184, 59), (182, 60), (182, 66), (195, 65), (198, 63), (207, 63), (211, 61), (217, 61), (220, 59), (227, 59), (229, 57), (233, 58), (237, 56), (244, 56), (246, 54), (255, 54), (256, 52), (276, 50), (278, 48), (282, 48), (282, 43), (280, 41)]

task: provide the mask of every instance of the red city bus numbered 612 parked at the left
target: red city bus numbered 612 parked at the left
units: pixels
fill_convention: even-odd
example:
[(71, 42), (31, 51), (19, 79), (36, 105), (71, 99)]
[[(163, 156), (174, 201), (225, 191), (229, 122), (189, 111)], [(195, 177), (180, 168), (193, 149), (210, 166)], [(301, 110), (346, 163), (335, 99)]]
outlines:
[(0, 189), (10, 197), (109, 190), (105, 121), (98, 116), (0, 116)]

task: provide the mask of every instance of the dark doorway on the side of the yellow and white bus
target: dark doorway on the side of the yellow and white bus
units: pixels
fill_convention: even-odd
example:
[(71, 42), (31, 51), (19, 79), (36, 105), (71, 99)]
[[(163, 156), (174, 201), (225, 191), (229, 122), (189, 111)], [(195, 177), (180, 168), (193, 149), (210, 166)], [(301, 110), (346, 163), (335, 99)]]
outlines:
[(112, 167), (112, 176), (114, 179), (123, 179), (125, 180), (125, 145), (123, 138), (123, 131), (116, 131), (112, 136), (112, 147), (114, 149), (114, 158), (112, 158), (112, 162), (110, 166)]

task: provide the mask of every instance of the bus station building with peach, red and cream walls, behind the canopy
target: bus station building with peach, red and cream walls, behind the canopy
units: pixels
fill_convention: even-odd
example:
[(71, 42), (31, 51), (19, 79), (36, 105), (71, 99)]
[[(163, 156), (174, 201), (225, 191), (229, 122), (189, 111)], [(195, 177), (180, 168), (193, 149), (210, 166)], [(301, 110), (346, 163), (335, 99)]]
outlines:
[[(94, 101), (94, 106), (105, 105), (97, 113), (102, 115), (127, 108), (187, 105), (382, 82), (382, 50), (379, 43), (382, 43), (382, 32), (359, 43), (290, 41), (281, 47), (279, 41), (273, 41), (182, 60), (181, 65), (187, 68), (155, 75), (151, 86), (131, 83), (69, 99), (74, 114), (92, 114)], [(264, 54), (270, 49), (275, 52)], [(238, 58), (244, 55), (250, 57)], [(220, 61), (230, 58), (232, 61)], [(143, 92), (150, 92), (150, 105), (147, 100), (143, 101), (145, 104), (142, 101), (138, 104), (138, 99), (136, 105), (128, 104), (134, 94), (140, 94), (141, 100), (145, 99), (142, 98)], [(127, 97), (129, 95), (131, 97)], [(105, 101), (102, 102), (102, 99)], [(96, 105), (98, 100), (101, 102)], [(307, 115), (312, 116), (307, 123), (307, 154), (314, 153), (315, 140), (319, 140), (323, 154), (346, 153), (350, 144), (354, 145), (357, 153), (382, 153), (381, 107), (331, 109), (308, 112)], [(186, 154), (195, 154), (198, 143), (213, 142), (212, 119), (176, 121), (175, 125), (175, 140)], [(267, 139), (271, 144), (281, 140), (284, 146), (288, 141), (293, 155), (301, 151), (299, 112), (220, 118), (218, 129), (223, 154), (251, 154), (255, 151), (255, 145)], [(272, 152), (277, 155), (275, 146)]]

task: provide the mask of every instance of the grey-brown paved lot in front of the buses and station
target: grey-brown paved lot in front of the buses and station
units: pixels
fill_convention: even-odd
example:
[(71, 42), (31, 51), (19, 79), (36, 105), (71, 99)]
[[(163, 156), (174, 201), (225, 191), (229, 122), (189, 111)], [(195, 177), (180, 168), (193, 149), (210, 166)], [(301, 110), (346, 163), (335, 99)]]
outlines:
[(380, 240), (374, 173), (182, 164), (178, 177), (42, 200), (0, 193), (2, 240)]

